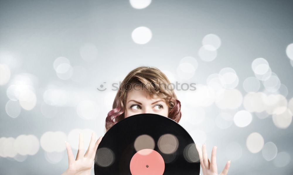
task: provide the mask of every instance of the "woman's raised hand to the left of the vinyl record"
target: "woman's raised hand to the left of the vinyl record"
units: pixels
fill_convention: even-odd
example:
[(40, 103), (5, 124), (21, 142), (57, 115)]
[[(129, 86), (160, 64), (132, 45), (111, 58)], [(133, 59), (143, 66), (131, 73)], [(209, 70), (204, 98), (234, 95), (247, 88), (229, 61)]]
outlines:
[(71, 147), (68, 142), (65, 142), (67, 155), (68, 155), (68, 168), (62, 175), (80, 174), (80, 175), (90, 175), (93, 162), (95, 160), (96, 150), (98, 145), (102, 140), (102, 136), (96, 141), (96, 134), (92, 132), (91, 141), (88, 146), (88, 150), (84, 154), (84, 138), (81, 133), (79, 133), (79, 145), (74, 160), (74, 155), (72, 153)]

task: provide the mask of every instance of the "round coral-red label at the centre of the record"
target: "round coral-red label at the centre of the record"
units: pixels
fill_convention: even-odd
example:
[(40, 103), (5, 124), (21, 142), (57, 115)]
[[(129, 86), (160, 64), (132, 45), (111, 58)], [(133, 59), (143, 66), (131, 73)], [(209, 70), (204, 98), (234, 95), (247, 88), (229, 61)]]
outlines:
[(142, 149), (130, 161), (132, 175), (162, 175), (165, 170), (163, 157), (155, 150)]

